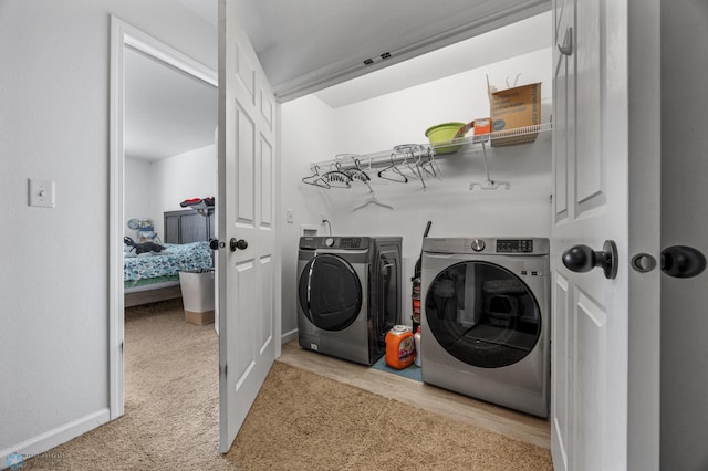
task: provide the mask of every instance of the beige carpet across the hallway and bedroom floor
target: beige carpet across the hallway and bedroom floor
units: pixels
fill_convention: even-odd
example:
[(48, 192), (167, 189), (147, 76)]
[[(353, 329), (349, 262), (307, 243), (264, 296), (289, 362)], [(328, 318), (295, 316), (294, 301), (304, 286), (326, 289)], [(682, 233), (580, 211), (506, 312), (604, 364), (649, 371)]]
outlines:
[(218, 339), (181, 306), (129, 310), (125, 416), (21, 469), (550, 470), (548, 450), (277, 362), (218, 453)]

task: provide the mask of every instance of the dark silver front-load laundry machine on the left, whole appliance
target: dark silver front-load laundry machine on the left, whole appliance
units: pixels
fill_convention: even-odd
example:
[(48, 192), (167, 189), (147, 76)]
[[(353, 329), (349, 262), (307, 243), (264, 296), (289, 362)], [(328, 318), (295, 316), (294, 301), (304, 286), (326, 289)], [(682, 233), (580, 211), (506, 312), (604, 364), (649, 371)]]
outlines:
[(402, 238), (302, 237), (298, 257), (300, 346), (364, 365), (400, 324)]

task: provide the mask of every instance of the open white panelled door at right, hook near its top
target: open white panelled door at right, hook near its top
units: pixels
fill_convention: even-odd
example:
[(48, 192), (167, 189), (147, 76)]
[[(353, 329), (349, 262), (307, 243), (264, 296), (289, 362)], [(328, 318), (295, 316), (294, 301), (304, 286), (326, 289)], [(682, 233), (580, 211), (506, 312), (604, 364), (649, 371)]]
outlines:
[(658, 469), (660, 3), (632, 3), (553, 1), (558, 470)]

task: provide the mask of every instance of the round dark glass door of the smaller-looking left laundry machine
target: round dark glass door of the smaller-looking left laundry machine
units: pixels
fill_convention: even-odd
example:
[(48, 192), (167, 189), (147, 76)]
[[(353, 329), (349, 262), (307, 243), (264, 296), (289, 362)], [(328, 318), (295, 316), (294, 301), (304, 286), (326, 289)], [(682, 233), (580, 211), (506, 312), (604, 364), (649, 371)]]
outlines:
[(300, 275), (300, 307), (317, 328), (342, 331), (362, 308), (362, 284), (344, 259), (323, 253), (308, 262)]

